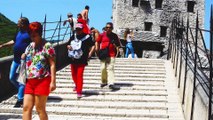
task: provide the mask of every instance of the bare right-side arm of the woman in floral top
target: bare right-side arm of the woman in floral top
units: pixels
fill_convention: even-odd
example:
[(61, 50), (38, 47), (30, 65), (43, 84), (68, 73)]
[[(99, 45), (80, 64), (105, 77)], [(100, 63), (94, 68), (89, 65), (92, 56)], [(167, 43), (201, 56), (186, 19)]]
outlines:
[(56, 89), (55, 57), (49, 57), (48, 61), (50, 64), (50, 73), (51, 73), (50, 91), (54, 91)]

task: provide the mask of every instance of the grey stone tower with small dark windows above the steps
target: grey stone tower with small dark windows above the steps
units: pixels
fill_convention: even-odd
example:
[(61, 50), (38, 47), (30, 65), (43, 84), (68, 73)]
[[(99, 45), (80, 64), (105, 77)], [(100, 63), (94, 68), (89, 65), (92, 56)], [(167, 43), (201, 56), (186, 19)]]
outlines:
[(168, 49), (173, 18), (179, 17), (186, 25), (188, 16), (190, 26), (195, 27), (198, 12), (203, 28), (204, 5), (205, 0), (113, 0), (114, 31), (122, 41), (125, 28), (130, 28), (138, 57), (160, 58)]

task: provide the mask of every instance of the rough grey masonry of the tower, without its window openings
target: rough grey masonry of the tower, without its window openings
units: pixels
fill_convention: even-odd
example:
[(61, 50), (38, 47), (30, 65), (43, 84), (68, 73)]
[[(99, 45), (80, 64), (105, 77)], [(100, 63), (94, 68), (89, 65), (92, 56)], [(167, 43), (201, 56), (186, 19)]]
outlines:
[[(156, 8), (156, 1), (139, 0), (138, 7), (133, 7), (133, 0), (113, 0), (114, 32), (123, 39), (125, 28), (130, 28), (135, 35), (135, 41), (159, 41), (162, 45), (168, 45), (167, 38), (169, 37), (174, 17), (179, 17), (179, 22), (183, 21), (184, 25), (187, 24), (188, 17), (189, 26), (195, 28), (198, 14), (199, 27), (204, 27), (205, 0), (162, 0), (161, 8)], [(188, 1), (194, 2), (194, 12), (187, 12)], [(152, 23), (151, 31), (145, 31), (145, 22)], [(160, 36), (161, 26), (167, 28), (166, 36), (164, 37)], [(192, 33), (195, 35), (194, 30), (192, 30)], [(147, 39), (146, 34), (151, 34), (153, 39)], [(144, 38), (141, 36), (144, 36)], [(192, 36), (189, 36), (189, 39), (192, 40)], [(198, 44), (202, 47), (202, 40), (201, 38), (198, 39)], [(159, 52), (165, 51), (166, 48), (167, 46)]]

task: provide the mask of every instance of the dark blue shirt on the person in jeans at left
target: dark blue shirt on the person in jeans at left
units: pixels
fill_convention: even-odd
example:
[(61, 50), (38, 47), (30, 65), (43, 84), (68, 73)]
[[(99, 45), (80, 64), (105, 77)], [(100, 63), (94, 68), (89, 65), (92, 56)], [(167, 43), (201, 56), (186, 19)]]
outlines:
[(26, 31), (19, 31), (14, 40), (13, 47), (14, 61), (20, 63), (21, 55), (24, 53), (26, 47), (30, 44), (31, 39)]

